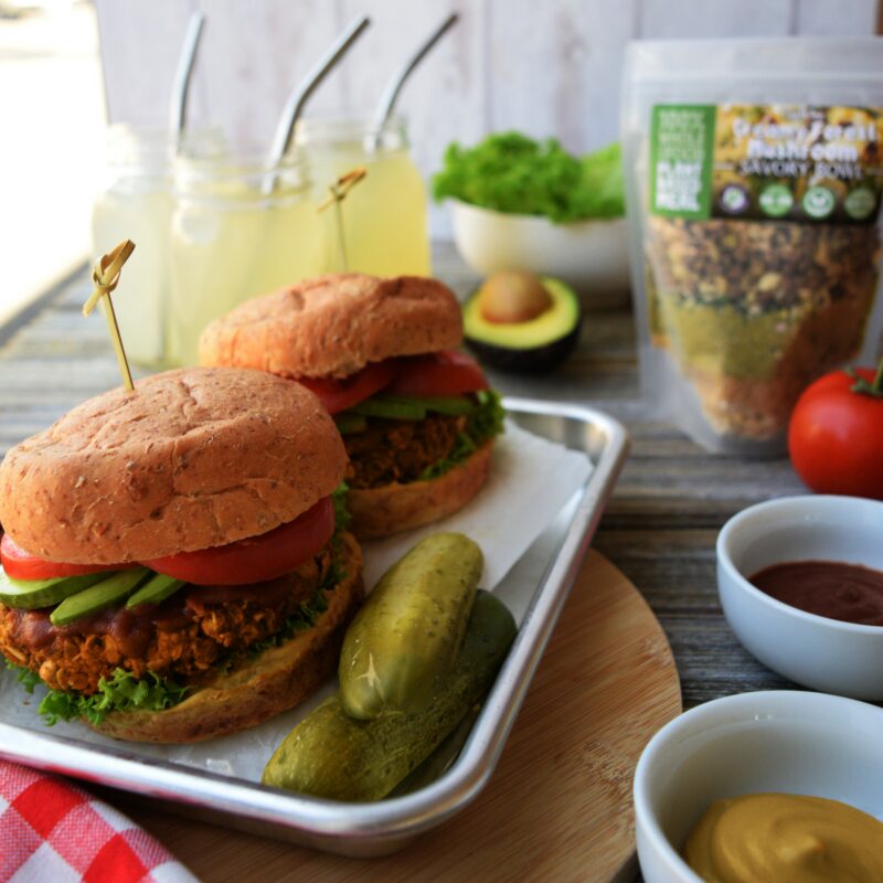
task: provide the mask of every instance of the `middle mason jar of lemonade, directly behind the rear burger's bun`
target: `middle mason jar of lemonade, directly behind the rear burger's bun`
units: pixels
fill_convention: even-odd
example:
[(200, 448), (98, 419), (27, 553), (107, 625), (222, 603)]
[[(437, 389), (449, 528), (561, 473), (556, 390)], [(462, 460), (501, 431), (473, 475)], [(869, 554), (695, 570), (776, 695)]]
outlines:
[(330, 269), (301, 159), (185, 157), (174, 166), (169, 357), (198, 362), (205, 326), (237, 304)]

